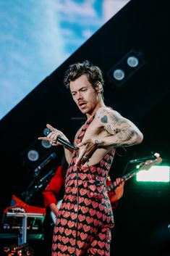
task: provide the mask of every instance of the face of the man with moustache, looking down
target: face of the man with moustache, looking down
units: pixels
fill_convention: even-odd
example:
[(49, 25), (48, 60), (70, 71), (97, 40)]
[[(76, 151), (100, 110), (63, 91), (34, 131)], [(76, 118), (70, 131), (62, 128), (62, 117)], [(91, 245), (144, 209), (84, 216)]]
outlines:
[(83, 114), (91, 114), (98, 104), (99, 97), (87, 76), (81, 75), (80, 78), (70, 82), (69, 88), (80, 111)]

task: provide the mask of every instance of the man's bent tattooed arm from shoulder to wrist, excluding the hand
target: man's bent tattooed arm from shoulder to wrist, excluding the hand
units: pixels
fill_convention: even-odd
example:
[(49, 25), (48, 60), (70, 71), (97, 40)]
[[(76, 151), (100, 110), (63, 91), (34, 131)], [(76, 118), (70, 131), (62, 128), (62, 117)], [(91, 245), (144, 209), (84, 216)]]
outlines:
[(98, 146), (132, 146), (143, 141), (143, 133), (137, 126), (115, 110), (101, 108), (96, 117), (109, 133), (104, 139), (95, 140)]

